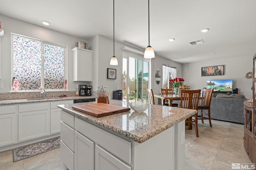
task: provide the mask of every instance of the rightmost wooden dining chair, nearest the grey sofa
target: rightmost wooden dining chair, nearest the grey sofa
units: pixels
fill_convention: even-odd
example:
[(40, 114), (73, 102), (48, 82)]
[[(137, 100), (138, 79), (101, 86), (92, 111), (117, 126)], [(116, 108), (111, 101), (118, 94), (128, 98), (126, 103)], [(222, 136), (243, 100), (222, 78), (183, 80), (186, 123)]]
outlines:
[[(198, 114), (198, 120), (201, 120), (202, 123), (204, 123), (204, 119), (208, 119), (210, 127), (212, 127), (210, 108), (213, 90), (214, 89), (203, 89), (202, 97), (204, 97), (204, 99), (201, 99), (201, 104), (198, 105), (198, 110), (200, 110), (200, 112), (198, 112), (200, 113)], [(203, 110), (208, 110), (208, 113), (203, 112)], [(204, 117), (203, 115), (207, 115), (208, 117)]]

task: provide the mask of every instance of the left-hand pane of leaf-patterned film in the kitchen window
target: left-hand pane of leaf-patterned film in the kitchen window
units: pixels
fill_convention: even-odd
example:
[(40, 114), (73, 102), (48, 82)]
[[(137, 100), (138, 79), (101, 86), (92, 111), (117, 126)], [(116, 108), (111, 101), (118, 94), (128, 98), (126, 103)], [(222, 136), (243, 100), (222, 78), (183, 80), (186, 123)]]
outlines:
[(19, 90), (38, 90), (41, 86), (42, 43), (14, 36), (13, 76)]

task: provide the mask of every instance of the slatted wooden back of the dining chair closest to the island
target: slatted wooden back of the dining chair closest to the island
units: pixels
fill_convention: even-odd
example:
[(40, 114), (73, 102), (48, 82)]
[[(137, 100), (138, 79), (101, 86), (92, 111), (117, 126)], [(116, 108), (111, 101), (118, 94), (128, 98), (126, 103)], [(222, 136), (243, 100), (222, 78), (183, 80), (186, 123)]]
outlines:
[(198, 110), (198, 102), (201, 90), (181, 90), (180, 107)]

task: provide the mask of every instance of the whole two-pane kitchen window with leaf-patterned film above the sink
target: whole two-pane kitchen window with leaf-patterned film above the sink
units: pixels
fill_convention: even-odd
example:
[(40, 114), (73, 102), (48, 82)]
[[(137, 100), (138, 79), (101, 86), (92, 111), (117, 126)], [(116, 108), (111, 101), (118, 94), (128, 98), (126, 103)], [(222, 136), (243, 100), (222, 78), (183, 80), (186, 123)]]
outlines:
[(66, 46), (12, 34), (18, 90), (64, 90)]

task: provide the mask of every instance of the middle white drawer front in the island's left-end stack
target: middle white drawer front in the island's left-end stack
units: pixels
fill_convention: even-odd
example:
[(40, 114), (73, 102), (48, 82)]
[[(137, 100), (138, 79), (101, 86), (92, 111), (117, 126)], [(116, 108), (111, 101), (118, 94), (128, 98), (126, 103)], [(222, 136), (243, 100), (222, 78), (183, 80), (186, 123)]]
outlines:
[(75, 129), (60, 122), (60, 139), (74, 152)]

